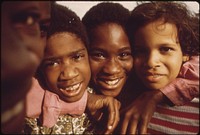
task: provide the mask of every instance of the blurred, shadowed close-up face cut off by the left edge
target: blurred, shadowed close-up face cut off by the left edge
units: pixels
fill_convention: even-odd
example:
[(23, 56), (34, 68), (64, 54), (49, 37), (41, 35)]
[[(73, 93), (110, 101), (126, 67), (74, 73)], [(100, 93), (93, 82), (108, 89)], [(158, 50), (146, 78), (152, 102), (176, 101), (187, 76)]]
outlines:
[(45, 47), (45, 31), (40, 29), (40, 25), (48, 23), (49, 17), (49, 2), (4, 1), (2, 3), (1, 127), (3, 133), (19, 133), (22, 129), (24, 99), (31, 87), (31, 78), (41, 62)]

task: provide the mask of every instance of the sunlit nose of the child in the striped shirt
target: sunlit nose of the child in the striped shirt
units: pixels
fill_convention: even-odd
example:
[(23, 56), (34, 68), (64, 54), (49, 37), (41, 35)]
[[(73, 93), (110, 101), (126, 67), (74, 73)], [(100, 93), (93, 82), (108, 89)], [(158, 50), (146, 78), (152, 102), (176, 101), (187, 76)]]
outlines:
[(147, 68), (156, 68), (159, 67), (159, 54), (156, 52), (150, 52), (146, 57), (146, 62), (144, 62), (145, 67)]

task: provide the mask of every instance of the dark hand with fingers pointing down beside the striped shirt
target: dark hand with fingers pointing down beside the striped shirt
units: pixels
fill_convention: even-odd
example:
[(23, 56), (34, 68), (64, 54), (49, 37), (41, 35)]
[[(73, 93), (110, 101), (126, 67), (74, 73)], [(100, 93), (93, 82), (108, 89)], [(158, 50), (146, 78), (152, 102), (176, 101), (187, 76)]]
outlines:
[(120, 111), (122, 134), (147, 134), (147, 126), (158, 103), (164, 100), (160, 90), (142, 93), (132, 104)]

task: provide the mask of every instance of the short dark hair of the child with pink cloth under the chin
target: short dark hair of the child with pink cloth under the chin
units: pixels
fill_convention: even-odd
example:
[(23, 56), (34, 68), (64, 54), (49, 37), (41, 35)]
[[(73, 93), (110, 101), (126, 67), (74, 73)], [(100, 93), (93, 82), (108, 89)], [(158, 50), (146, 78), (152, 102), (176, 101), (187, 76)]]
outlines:
[(87, 47), (87, 33), (80, 18), (67, 7), (54, 3), (51, 6), (51, 23), (47, 31), (47, 39), (62, 32), (75, 34)]

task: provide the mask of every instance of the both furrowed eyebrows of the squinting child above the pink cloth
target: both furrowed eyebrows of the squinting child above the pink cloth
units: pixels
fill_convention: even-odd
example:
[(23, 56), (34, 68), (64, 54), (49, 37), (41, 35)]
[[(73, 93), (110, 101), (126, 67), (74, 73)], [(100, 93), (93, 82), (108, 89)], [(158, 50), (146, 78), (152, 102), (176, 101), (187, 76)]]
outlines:
[(50, 57), (43, 59), (43, 61), (57, 60), (57, 59), (61, 59), (64, 56), (73, 56), (73, 55), (76, 55), (77, 53), (82, 52), (82, 51), (86, 51), (86, 48), (81, 48), (81, 49), (78, 49), (76, 51), (72, 51), (67, 55), (64, 54), (64, 55), (60, 55), (60, 56), (50, 56)]

